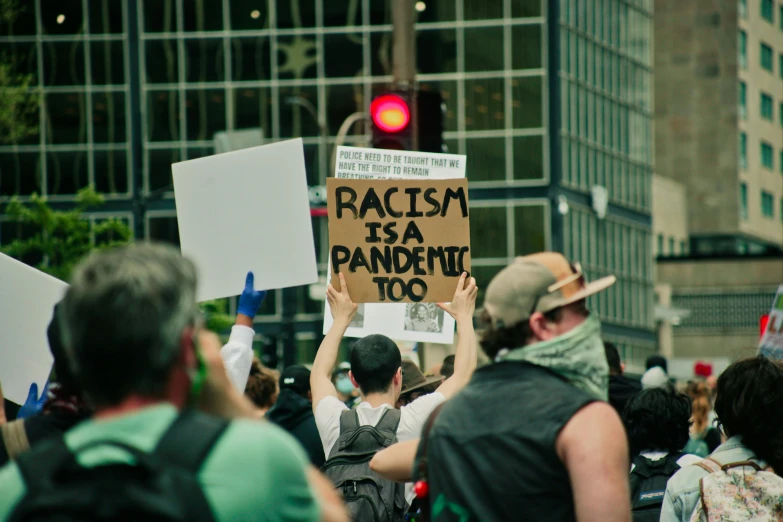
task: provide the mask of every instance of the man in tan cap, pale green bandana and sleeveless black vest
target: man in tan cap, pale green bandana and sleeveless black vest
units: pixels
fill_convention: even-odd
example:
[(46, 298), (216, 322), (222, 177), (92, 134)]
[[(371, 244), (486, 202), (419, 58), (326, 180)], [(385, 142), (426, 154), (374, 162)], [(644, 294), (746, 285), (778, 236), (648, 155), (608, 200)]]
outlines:
[(517, 258), (490, 282), (481, 346), (494, 363), (418, 444), (416, 489), (432, 520), (630, 521), (625, 431), (585, 301), (614, 282), (588, 283), (553, 252)]

